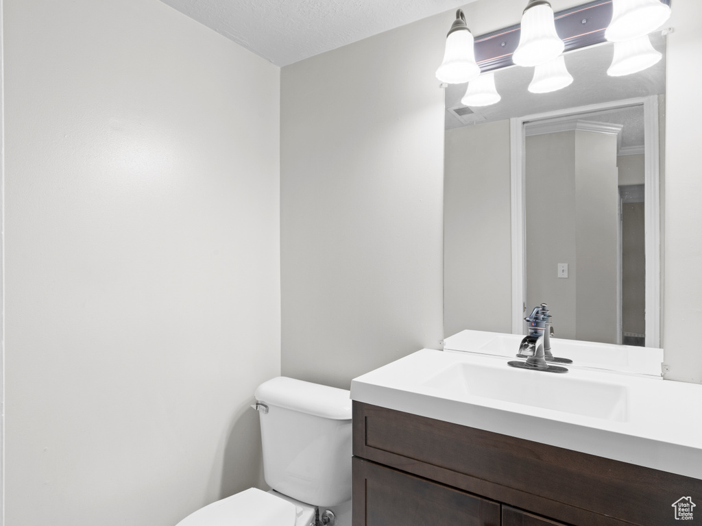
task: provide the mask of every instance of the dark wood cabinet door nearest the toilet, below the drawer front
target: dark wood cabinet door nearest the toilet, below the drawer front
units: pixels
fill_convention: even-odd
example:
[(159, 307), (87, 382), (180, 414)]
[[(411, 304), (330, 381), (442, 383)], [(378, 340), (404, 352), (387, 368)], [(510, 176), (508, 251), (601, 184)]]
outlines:
[(353, 526), (500, 526), (500, 505), (354, 457)]

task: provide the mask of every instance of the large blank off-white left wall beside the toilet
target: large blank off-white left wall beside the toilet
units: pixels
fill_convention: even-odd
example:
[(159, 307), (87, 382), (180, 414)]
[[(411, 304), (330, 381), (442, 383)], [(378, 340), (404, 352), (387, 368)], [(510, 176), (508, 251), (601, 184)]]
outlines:
[(157, 0), (5, 0), (6, 523), (260, 483), (279, 69)]

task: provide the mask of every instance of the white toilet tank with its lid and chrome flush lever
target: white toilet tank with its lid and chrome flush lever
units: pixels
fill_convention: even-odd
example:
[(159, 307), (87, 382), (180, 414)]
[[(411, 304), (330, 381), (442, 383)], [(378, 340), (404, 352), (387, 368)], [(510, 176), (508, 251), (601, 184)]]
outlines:
[(264, 382), (259, 410), (267, 485), (312, 506), (351, 498), (350, 392), (286, 377)]

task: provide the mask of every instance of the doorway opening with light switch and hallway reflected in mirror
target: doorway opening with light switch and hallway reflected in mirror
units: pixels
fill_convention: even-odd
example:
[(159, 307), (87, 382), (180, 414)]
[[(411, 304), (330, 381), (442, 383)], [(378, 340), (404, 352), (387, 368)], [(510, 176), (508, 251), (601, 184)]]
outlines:
[(524, 135), (527, 306), (548, 299), (558, 337), (643, 346), (644, 107), (526, 123)]

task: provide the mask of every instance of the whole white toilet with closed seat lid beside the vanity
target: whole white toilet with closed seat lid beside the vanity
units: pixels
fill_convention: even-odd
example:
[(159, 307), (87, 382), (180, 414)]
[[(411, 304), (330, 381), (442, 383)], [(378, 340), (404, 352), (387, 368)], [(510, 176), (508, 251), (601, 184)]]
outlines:
[(250, 488), (200, 508), (177, 526), (314, 526), (315, 512), (351, 499), (349, 391), (286, 377), (256, 389), (263, 474)]

